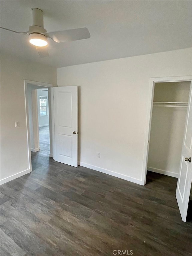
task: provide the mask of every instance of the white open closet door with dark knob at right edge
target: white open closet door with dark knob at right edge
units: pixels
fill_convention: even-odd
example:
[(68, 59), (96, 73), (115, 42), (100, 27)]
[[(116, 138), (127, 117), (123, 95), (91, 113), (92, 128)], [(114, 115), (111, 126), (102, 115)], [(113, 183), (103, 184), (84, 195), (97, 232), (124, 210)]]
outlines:
[[(191, 83), (192, 84), (192, 83)], [(190, 86), (187, 119), (184, 131), (184, 140), (180, 162), (180, 173), (177, 182), (176, 198), (183, 221), (186, 221), (192, 181), (192, 86)]]

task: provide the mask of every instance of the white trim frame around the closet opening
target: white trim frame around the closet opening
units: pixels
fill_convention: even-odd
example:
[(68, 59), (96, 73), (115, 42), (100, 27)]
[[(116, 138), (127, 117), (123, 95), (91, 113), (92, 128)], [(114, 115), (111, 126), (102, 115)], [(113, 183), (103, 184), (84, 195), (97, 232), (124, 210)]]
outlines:
[(150, 139), (150, 134), (151, 134), (151, 121), (152, 121), (152, 110), (153, 110), (153, 98), (154, 98), (155, 83), (184, 82), (184, 81), (191, 81), (191, 80), (192, 80), (192, 76), (153, 77), (153, 78), (150, 79), (141, 185), (146, 184), (147, 163), (148, 163), (148, 154), (149, 154), (149, 143), (148, 143), (148, 141)]

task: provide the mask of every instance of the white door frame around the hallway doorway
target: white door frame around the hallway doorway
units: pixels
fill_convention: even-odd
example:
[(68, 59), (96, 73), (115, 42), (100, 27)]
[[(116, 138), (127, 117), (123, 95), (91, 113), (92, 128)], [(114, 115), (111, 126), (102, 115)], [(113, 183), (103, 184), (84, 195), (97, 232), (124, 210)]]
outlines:
[[(50, 151), (52, 147), (52, 154), (49, 154), (50, 157), (53, 157), (53, 149), (54, 149), (54, 119), (52, 118), (52, 94), (51, 88), (53, 87), (50, 83), (43, 83), (37, 81), (31, 81), (24, 79), (24, 92), (25, 92), (25, 110), (26, 110), (26, 126), (27, 126), (27, 143), (28, 143), (28, 161), (29, 161), (29, 171), (32, 172), (32, 161), (31, 161), (31, 142), (30, 142), (30, 129), (29, 129), (29, 107), (28, 107), (28, 97), (27, 97), (27, 85), (32, 84), (35, 86), (43, 86), (48, 88), (48, 95), (49, 95), (49, 128), (51, 127), (51, 131), (49, 132), (49, 139), (50, 139)], [(52, 145), (51, 145), (52, 144)]]

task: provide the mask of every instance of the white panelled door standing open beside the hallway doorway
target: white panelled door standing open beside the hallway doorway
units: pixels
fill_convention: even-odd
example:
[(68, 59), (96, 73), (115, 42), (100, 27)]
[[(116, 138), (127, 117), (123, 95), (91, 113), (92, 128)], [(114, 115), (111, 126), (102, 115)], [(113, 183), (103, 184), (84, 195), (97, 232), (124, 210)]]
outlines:
[(55, 161), (77, 167), (77, 86), (53, 88)]

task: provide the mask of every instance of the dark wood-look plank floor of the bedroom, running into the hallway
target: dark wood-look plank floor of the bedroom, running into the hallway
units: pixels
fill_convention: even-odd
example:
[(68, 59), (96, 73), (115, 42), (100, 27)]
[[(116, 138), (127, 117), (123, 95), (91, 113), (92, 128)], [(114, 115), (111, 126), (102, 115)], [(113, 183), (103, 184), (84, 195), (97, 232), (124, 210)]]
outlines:
[(1, 185), (1, 256), (192, 255), (176, 178), (149, 172), (141, 186), (42, 150), (32, 161), (32, 173)]

